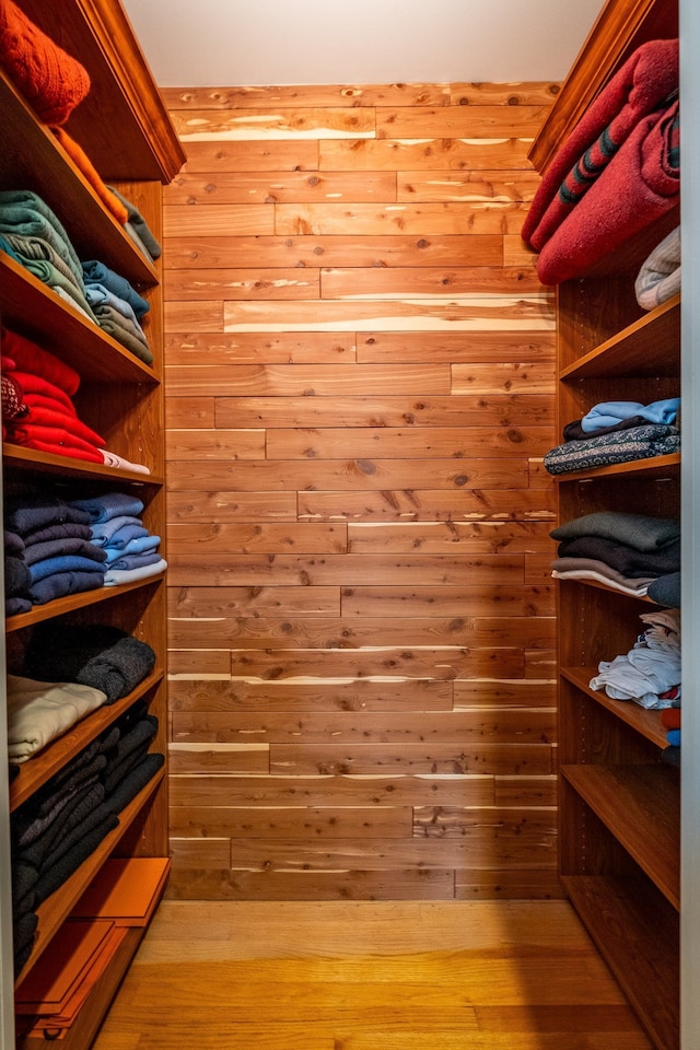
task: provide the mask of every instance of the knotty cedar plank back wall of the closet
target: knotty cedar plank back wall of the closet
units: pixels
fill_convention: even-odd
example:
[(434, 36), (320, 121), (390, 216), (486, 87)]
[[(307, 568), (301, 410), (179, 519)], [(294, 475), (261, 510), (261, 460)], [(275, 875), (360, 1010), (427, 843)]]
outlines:
[(171, 897), (560, 895), (556, 90), (164, 91)]

